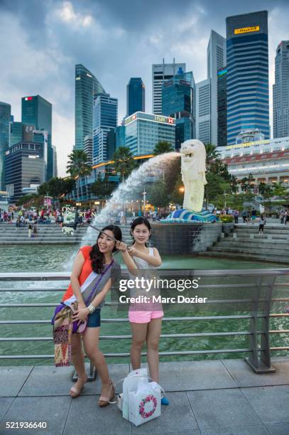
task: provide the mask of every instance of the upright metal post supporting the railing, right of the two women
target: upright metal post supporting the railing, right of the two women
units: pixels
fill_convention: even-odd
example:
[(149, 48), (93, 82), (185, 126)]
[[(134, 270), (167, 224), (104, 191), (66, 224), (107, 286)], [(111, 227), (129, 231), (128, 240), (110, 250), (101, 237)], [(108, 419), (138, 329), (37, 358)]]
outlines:
[[(250, 338), (249, 347), (251, 355), (245, 358), (246, 363), (253, 369), (255, 373), (273, 373), (275, 369), (271, 366), (270, 358), (270, 340), (269, 340), (269, 320), (271, 299), (273, 294), (273, 285), (276, 277), (269, 278), (266, 294), (262, 297), (262, 276), (258, 276), (256, 283), (256, 291), (253, 291), (251, 299), (252, 309), (250, 319)], [(262, 299), (262, 301), (260, 300)], [(262, 307), (262, 320), (261, 320), (261, 350), (258, 349), (258, 311)], [(258, 352), (261, 352), (258, 358)]]

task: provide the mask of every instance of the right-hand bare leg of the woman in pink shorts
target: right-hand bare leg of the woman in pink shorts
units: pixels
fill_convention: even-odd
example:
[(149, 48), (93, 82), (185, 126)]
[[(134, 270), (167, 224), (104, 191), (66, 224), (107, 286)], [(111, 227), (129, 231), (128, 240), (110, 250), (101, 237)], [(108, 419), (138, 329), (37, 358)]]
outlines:
[(158, 343), (160, 341), (160, 331), (162, 328), (162, 318), (152, 318), (148, 323), (148, 333), (146, 336), (146, 344), (148, 346), (148, 367), (150, 369), (151, 378), (158, 382)]

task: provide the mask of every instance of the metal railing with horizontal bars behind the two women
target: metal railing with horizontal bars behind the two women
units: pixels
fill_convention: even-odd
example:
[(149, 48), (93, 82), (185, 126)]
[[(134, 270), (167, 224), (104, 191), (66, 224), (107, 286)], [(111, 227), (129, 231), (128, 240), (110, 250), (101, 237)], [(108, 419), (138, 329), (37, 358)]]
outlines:
[[(168, 271), (168, 276), (171, 272)], [(174, 271), (176, 273), (176, 271)], [(248, 313), (241, 314), (228, 314), (214, 315), (214, 316), (173, 316), (163, 318), (164, 322), (218, 322), (218, 321), (239, 321), (245, 320), (248, 322), (248, 329), (246, 331), (228, 331), (228, 332), (202, 332), (202, 333), (163, 333), (160, 337), (165, 338), (210, 338), (210, 337), (234, 337), (243, 336), (249, 338), (248, 348), (224, 348), (224, 349), (207, 349), (207, 350), (170, 350), (167, 352), (160, 352), (160, 357), (172, 356), (172, 355), (209, 355), (209, 354), (229, 354), (229, 353), (244, 353), (248, 354), (245, 358), (246, 363), (256, 373), (274, 372), (274, 368), (271, 366), (271, 352), (278, 350), (289, 350), (289, 346), (276, 346), (270, 347), (270, 336), (282, 333), (289, 333), (287, 329), (270, 330), (269, 323), (271, 318), (288, 317), (289, 314), (284, 312), (272, 313), (271, 304), (273, 303), (285, 303), (289, 305), (289, 292), (288, 297), (278, 297), (278, 289), (289, 289), (289, 269), (249, 269), (249, 270), (198, 270), (193, 271), (194, 276), (198, 276), (203, 279), (208, 279), (207, 284), (200, 284), (199, 289), (208, 289), (211, 291), (224, 291), (228, 293), (231, 290), (239, 291), (241, 296), (244, 291), (249, 291), (250, 297), (245, 298), (227, 298), (227, 299), (209, 299), (207, 304), (239, 304), (249, 303), (251, 309)], [(28, 282), (28, 281), (68, 281), (70, 274), (67, 272), (39, 272), (39, 273), (1, 273), (0, 274), (0, 295), (5, 292), (37, 292), (51, 293), (51, 292), (63, 292), (62, 288), (48, 286), (46, 288), (29, 288), (22, 284), (21, 288), (13, 286), (3, 286), (6, 282), (14, 283)], [(212, 279), (216, 280), (212, 282)], [(229, 280), (230, 282), (227, 282)], [(243, 282), (244, 281), (244, 282)], [(203, 281), (202, 281), (203, 282)], [(274, 294), (273, 294), (274, 293)], [(3, 298), (2, 298), (3, 299)], [(28, 304), (19, 303), (2, 303), (0, 308), (39, 308), (39, 307), (55, 307), (57, 301), (51, 303), (38, 303), (31, 301)], [(115, 306), (115, 302), (108, 302), (106, 306)], [(285, 306), (285, 304), (284, 304)], [(261, 308), (261, 310), (260, 310)], [(52, 310), (53, 311), (53, 310)], [(102, 323), (120, 323), (127, 322), (128, 318), (102, 318)], [(50, 320), (0, 320), (0, 325), (8, 325), (11, 328), (15, 325), (41, 325), (50, 324)], [(2, 328), (3, 330), (3, 328)], [(128, 340), (131, 335), (102, 335), (101, 340)], [(4, 342), (33, 342), (33, 341), (52, 341), (51, 336), (33, 336), (33, 337), (0, 337), (0, 345)], [(146, 355), (143, 353), (142, 355)], [(104, 353), (104, 356), (111, 357), (129, 357), (129, 353)], [(18, 359), (37, 359), (47, 360), (54, 358), (54, 355), (0, 355), (0, 360), (18, 360)]]

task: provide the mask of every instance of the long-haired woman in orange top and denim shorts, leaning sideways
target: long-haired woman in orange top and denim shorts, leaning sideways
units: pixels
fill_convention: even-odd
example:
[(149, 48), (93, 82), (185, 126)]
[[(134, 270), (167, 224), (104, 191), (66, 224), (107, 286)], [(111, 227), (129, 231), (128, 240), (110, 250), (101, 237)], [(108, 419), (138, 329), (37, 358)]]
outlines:
[[(119, 242), (116, 243), (116, 240)], [(87, 320), (87, 328), (82, 335), (82, 340), (85, 353), (96, 367), (102, 380), (99, 407), (107, 406), (109, 400), (114, 398), (114, 385), (109, 379), (104, 355), (99, 350), (99, 327), (100, 311), (104, 305), (105, 296), (111, 288), (111, 272), (117, 273), (120, 270), (119, 264), (112, 257), (112, 253), (117, 250), (116, 245), (119, 245), (120, 242), (120, 228), (108, 225), (99, 233), (95, 245), (81, 247), (73, 264), (70, 286), (68, 286), (62, 299), (62, 302), (67, 305), (72, 304), (73, 301), (78, 302), (73, 321)], [(96, 288), (94, 288), (95, 285)], [(92, 294), (92, 292), (94, 293)], [(70, 389), (70, 396), (77, 397), (87, 382), (82, 342), (77, 333), (72, 334), (71, 350), (72, 363), (75, 366), (78, 380)]]

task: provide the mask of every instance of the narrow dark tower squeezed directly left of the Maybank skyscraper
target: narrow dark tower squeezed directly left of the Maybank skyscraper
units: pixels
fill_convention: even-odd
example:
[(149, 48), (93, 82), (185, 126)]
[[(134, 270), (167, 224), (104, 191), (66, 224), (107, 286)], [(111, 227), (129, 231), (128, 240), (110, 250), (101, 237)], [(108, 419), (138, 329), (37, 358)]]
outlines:
[(218, 146), (227, 145), (227, 68), (217, 72), (217, 132)]

